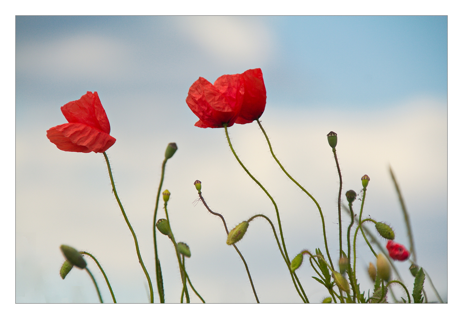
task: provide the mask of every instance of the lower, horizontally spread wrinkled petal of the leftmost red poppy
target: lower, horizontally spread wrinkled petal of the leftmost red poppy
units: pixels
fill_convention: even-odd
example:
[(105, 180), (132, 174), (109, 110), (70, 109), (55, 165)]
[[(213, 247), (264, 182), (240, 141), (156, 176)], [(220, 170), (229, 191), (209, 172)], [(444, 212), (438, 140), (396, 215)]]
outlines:
[(109, 134), (81, 123), (52, 127), (47, 131), (47, 138), (60, 150), (82, 153), (102, 153), (116, 142)]

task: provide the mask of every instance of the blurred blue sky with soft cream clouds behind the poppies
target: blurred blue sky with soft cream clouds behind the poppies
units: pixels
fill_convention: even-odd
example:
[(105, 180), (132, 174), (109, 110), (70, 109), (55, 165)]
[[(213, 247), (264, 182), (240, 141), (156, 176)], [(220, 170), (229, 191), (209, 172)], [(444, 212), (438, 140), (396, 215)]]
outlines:
[[(234, 159), (224, 131), (195, 127), (197, 118), (185, 103), (199, 76), (213, 82), (251, 68), (263, 70), (267, 88), (263, 126), (288, 172), (319, 201), (331, 255), (338, 251), (338, 175), (326, 134), (335, 131), (343, 194), (360, 191), (360, 178), (368, 174), (364, 214), (389, 222), (396, 241), (408, 245), (388, 175), (392, 165), (418, 263), (446, 300), (446, 17), (29, 16), (16, 19), (16, 302), (98, 301), (85, 272), (73, 269), (64, 281), (59, 277), (61, 244), (99, 259), (118, 302), (148, 301), (103, 156), (63, 152), (45, 136), (66, 122), (60, 106), (86, 91), (98, 91), (117, 139), (107, 154), (151, 278), (161, 162), (166, 145), (176, 142), (163, 189), (172, 194), (175, 238), (192, 252), (186, 267), (194, 287), (206, 302), (255, 302), (241, 260), (225, 244), (221, 221), (193, 204), (193, 182), (202, 181), (204, 197), (230, 229), (257, 213), (276, 225), (275, 211)], [(290, 257), (323, 248), (316, 206), (276, 165), (257, 123), (229, 132), (240, 158), (279, 205)], [(357, 213), (359, 205), (357, 200)], [(346, 215), (343, 220), (347, 225)], [(158, 238), (166, 301), (178, 302), (175, 253), (167, 238)], [(372, 284), (364, 268), (374, 256), (360, 238), (357, 244), (360, 287), (368, 292)], [(261, 302), (301, 301), (264, 220), (250, 224), (238, 248)], [(103, 277), (88, 263), (110, 302)], [(396, 264), (412, 289), (409, 263)], [(327, 294), (311, 278), (309, 263), (298, 275), (309, 301)], [(427, 283), (425, 289), (437, 300)]]

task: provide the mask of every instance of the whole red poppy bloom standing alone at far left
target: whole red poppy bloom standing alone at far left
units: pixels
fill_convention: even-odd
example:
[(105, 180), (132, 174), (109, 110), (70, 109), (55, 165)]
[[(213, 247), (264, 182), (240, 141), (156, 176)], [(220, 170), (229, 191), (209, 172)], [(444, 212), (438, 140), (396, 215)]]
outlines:
[(109, 135), (108, 117), (96, 91), (66, 103), (61, 112), (69, 123), (47, 130), (47, 138), (60, 150), (103, 153), (116, 142)]

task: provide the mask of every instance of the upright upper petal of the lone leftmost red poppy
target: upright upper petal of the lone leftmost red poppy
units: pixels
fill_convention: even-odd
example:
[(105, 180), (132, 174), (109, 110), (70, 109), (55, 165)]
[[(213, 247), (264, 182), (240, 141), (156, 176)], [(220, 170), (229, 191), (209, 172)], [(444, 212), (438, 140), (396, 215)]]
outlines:
[(69, 123), (86, 124), (107, 134), (111, 131), (105, 109), (96, 91), (88, 91), (79, 100), (66, 103), (61, 106), (61, 112)]

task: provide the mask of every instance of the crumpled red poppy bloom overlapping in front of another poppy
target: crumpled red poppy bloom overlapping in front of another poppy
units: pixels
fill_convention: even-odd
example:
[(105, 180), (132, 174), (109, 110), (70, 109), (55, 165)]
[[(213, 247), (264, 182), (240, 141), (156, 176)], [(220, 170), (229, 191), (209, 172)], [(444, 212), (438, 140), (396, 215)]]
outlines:
[(189, 108), (200, 118), (198, 127), (232, 126), (243, 104), (244, 84), (240, 74), (222, 75), (214, 84), (200, 77), (188, 91)]

